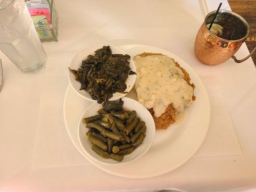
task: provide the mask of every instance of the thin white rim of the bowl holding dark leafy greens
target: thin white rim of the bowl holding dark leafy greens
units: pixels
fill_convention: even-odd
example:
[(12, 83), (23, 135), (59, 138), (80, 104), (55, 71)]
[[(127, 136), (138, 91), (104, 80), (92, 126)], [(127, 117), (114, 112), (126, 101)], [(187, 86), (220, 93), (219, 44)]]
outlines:
[[(73, 58), (70, 60), (69, 65), (68, 65), (68, 68), (70, 68), (71, 62), (73, 61), (74, 58), (76, 58), (76, 57), (77, 57), (81, 52), (83, 52), (86, 48), (93, 47), (93, 46), (102, 46), (102, 47), (103, 47), (103, 46), (110, 46), (110, 48), (111, 48), (111, 47), (114, 47), (114, 48), (120, 49), (120, 50), (122, 50), (125, 54), (129, 55), (126, 51), (124, 51), (122, 48), (119, 48), (118, 46), (106, 45), (106, 44), (91, 44), (91, 45), (88, 45), (88, 46), (86, 46), (86, 47), (84, 47), (84, 48), (82, 48), (82, 49), (80, 49), (79, 51), (76, 52), (76, 54), (75, 54), (75, 55), (73, 56)], [(87, 55), (87, 56), (88, 56), (88, 55)], [(86, 56), (86, 57), (87, 57), (87, 56)], [(135, 65), (134, 60), (133, 60), (132, 57), (131, 57), (131, 59), (130, 59), (130, 65), (131, 65), (131, 64), (134, 66), (135, 72), (136, 72), (136, 65)], [(69, 69), (67, 69), (67, 72), (68, 72), (67, 75), (68, 75), (69, 84), (71, 84), (71, 87), (73, 88), (73, 90), (74, 90), (79, 96), (82, 96), (82, 97), (85, 98), (86, 100), (93, 101), (93, 102), (97, 102), (97, 100), (94, 100), (94, 99), (92, 99), (91, 97), (86, 97), (86, 96), (82, 95), (82, 93), (80, 93), (78, 90), (76, 90), (75, 87), (74, 87), (73, 84), (72, 84), (71, 79), (70, 79), (69, 74), (70, 74), (71, 72), (69, 71)], [(128, 91), (128, 93), (133, 89), (134, 84), (135, 84), (135, 81), (136, 81), (136, 76), (137, 76), (137, 74), (133, 74), (133, 75), (135, 75), (134, 82), (132, 83), (132, 85), (131, 85), (130, 90)], [(72, 75), (71, 75), (71, 76), (72, 76)], [(129, 77), (129, 74), (128, 74), (128, 77)], [(127, 79), (128, 79), (128, 78), (127, 78)], [(126, 81), (127, 81), (127, 79), (126, 79)], [(128, 88), (128, 87), (127, 87), (127, 88)], [(86, 92), (86, 93), (87, 93), (87, 92)], [(118, 92), (116, 92), (116, 93), (118, 93)], [(112, 97), (109, 99), (109, 101), (114, 101), (114, 100), (120, 99), (120, 98), (126, 96), (128, 93), (120, 93), (120, 96), (118, 96), (118, 97), (116, 97), (116, 98), (113, 98), (113, 96), (112, 96)]]

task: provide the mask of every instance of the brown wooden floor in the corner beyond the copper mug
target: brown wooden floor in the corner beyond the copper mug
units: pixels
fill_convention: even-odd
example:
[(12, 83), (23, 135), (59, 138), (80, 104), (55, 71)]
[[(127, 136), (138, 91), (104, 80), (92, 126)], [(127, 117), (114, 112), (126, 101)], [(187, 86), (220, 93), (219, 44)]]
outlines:
[[(256, 0), (228, 0), (232, 12), (240, 14), (250, 25), (249, 36), (256, 37)], [(256, 47), (256, 41), (246, 42), (250, 52)], [(252, 56), (256, 66), (256, 53)], [(242, 59), (242, 58), (237, 58)]]

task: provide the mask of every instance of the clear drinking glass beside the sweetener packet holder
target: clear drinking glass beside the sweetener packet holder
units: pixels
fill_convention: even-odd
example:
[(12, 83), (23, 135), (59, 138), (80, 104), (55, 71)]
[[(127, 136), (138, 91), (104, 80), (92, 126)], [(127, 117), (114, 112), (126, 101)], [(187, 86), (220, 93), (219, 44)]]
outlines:
[(38, 72), (46, 63), (24, 0), (0, 0), (0, 49), (24, 73)]

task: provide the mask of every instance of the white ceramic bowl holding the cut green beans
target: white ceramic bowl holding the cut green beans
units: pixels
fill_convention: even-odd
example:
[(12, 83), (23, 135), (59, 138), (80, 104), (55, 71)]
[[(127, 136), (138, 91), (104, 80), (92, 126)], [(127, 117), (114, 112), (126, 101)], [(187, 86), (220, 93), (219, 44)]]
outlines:
[(134, 99), (127, 98), (127, 97), (123, 97), (122, 100), (124, 101), (123, 103), (124, 109), (135, 110), (137, 112), (137, 117), (139, 117), (141, 120), (146, 122), (146, 137), (143, 143), (137, 148), (135, 148), (133, 153), (124, 156), (121, 162), (118, 162), (113, 159), (105, 159), (102, 156), (99, 156), (96, 152), (94, 152), (91, 149), (92, 144), (86, 138), (85, 133), (89, 131), (89, 129), (85, 127), (86, 124), (83, 122), (83, 118), (97, 115), (98, 109), (102, 108), (101, 104), (98, 104), (95, 102), (89, 108), (87, 108), (82, 118), (80, 119), (80, 122), (78, 125), (79, 143), (82, 145), (82, 148), (85, 150), (85, 153), (88, 156), (90, 156), (93, 160), (99, 161), (103, 164), (123, 165), (123, 164), (131, 163), (137, 160), (138, 158), (140, 158), (141, 156), (143, 156), (147, 152), (147, 150), (150, 148), (150, 146), (153, 144), (156, 128), (155, 128), (155, 122), (152, 118), (152, 115), (138, 101), (135, 101)]

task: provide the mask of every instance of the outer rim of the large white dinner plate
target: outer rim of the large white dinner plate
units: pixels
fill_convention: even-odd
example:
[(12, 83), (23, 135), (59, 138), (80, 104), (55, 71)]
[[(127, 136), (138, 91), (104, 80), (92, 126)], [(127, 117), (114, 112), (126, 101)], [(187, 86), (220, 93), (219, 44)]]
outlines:
[[(78, 151), (90, 162), (92, 163), (93, 165), (95, 165), (96, 167), (100, 168), (101, 170), (103, 171), (106, 171), (110, 174), (113, 174), (113, 175), (116, 175), (116, 176), (120, 176), (120, 177), (124, 177), (124, 178), (133, 178), (133, 179), (137, 179), (137, 178), (151, 178), (151, 177), (156, 177), (156, 176), (159, 176), (159, 175), (163, 175), (163, 174), (166, 174), (166, 173), (169, 173), (171, 172), (172, 170), (176, 169), (176, 168), (179, 168), (180, 166), (182, 166), (185, 162), (187, 162), (194, 154), (195, 152), (199, 149), (199, 147), (201, 146), (201, 144), (204, 142), (205, 138), (206, 138), (206, 135), (207, 135), (207, 132), (208, 132), (208, 128), (209, 128), (209, 123), (210, 123), (210, 103), (209, 103), (209, 97), (208, 97), (208, 94), (207, 94), (207, 91), (206, 91), (206, 88), (205, 88), (205, 85), (203, 84), (201, 78), (199, 77), (199, 75), (195, 72), (195, 70), (186, 62), (184, 61), (182, 58), (180, 58), (179, 56), (173, 54), (172, 52), (168, 51), (168, 50), (165, 50), (165, 49), (162, 49), (162, 48), (158, 48), (158, 47), (154, 47), (154, 46), (148, 46), (148, 45), (143, 45), (143, 44), (127, 44), (127, 45), (122, 45), (122, 46), (118, 46), (118, 47), (121, 47), (123, 49), (123, 47), (148, 47), (148, 48), (154, 48), (154, 49), (158, 49), (159, 51), (163, 51), (163, 52), (168, 52), (168, 53), (171, 53), (171, 55), (175, 56), (173, 59), (176, 61), (176, 59), (178, 60), (181, 60), (183, 63), (186, 63), (186, 65), (190, 68), (189, 70), (192, 70), (194, 72), (194, 75), (200, 80), (201, 84), (203, 85), (201, 88), (203, 89), (203, 92), (205, 93), (206, 95), (206, 99), (207, 99), (207, 113), (208, 113), (208, 116), (207, 116), (207, 129), (205, 129), (205, 134), (204, 134), (204, 137), (201, 141), (201, 143), (195, 147), (194, 151), (193, 151), (193, 154), (189, 157), (189, 158), (185, 158), (183, 161), (180, 161), (179, 165), (177, 165), (175, 168), (169, 170), (169, 169), (166, 169), (165, 171), (162, 171), (161, 173), (151, 173), (150, 175), (143, 175), (143, 176), (129, 176), (127, 174), (123, 174), (122, 171), (117, 173), (115, 171), (112, 171), (111, 169), (109, 168), (105, 168), (104, 166), (106, 165), (97, 165), (95, 164), (95, 162), (93, 161), (93, 159), (91, 159), (89, 156), (85, 156), (85, 154), (81, 153), (81, 151), (79, 150), (79, 148), (74, 144), (74, 141), (73, 141), (73, 138), (71, 137), (70, 135), (70, 132), (67, 128), (67, 123), (66, 123), (66, 119), (65, 119), (65, 100), (66, 100), (66, 95), (68, 93), (68, 90), (71, 88), (71, 85), (68, 85), (67, 87), (67, 90), (66, 90), (66, 93), (65, 93), (65, 97), (64, 97), (64, 105), (63, 105), (63, 113), (64, 113), (64, 121), (65, 121), (65, 125), (66, 125), (66, 129), (68, 131), (68, 134), (73, 142), (73, 144), (75, 145), (75, 147), (78, 149)], [(131, 56), (132, 57), (132, 56)], [(176, 58), (176, 59), (175, 59)], [(181, 66), (183, 66), (182, 63), (179, 63), (181, 64)], [(187, 69), (187, 68), (186, 68)], [(72, 88), (71, 88), (72, 89)], [(122, 165), (121, 165), (122, 166)], [(125, 166), (125, 165), (123, 165)]]

